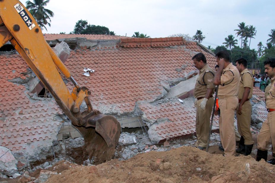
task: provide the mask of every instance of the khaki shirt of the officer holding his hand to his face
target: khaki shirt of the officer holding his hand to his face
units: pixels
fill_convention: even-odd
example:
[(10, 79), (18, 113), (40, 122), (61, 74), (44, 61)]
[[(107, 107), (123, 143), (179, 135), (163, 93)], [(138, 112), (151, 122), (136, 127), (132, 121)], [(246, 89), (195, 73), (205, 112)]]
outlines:
[(230, 63), (222, 70), (221, 84), (218, 90), (218, 96), (237, 96), (240, 85), (239, 70)]

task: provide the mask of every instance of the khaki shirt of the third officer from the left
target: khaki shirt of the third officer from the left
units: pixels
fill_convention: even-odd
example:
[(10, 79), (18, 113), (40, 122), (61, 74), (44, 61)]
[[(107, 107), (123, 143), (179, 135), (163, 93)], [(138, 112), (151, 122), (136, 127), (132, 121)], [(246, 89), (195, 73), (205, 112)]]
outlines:
[(239, 86), (239, 93), (238, 93), (238, 98), (242, 99), (243, 94), (244, 94), (244, 87), (249, 87), (250, 88), (250, 93), (248, 95), (247, 99), (250, 99), (253, 94), (253, 80), (254, 78), (252, 77), (252, 74), (248, 71), (248, 69), (244, 69), (241, 74), (240, 74), (240, 86)]

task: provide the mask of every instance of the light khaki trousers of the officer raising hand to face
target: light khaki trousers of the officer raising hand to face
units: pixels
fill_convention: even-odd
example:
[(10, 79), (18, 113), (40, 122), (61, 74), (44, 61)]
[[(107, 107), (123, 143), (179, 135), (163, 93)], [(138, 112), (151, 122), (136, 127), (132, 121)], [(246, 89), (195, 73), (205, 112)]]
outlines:
[(220, 137), (222, 147), (224, 148), (224, 156), (232, 156), (236, 153), (236, 139), (235, 139), (235, 125), (234, 116), (235, 110), (238, 107), (237, 96), (218, 96), (219, 107), (220, 107)]

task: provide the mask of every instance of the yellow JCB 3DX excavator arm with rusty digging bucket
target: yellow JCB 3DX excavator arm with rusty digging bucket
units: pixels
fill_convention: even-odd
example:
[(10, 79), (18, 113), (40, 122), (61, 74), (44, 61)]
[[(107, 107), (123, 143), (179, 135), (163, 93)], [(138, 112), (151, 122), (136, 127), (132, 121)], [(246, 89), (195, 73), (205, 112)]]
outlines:
[[(121, 127), (117, 119), (93, 109), (88, 97), (91, 91), (77, 84), (70, 71), (45, 41), (34, 17), (20, 1), (0, 0), (0, 17), (0, 47), (10, 41), (26, 60), (84, 137), (85, 153), (90, 158), (96, 157), (98, 162), (110, 160), (120, 136)], [(63, 82), (60, 71), (74, 84), (72, 93)], [(83, 100), (87, 109), (80, 111)]]

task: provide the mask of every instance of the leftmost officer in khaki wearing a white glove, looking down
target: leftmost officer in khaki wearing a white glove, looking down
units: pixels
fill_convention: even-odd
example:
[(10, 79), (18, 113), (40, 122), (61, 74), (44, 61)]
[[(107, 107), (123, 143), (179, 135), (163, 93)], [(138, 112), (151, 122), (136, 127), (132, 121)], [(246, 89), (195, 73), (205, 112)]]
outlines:
[(206, 63), (203, 53), (198, 53), (192, 58), (194, 65), (200, 70), (194, 89), (196, 114), (196, 147), (203, 150), (207, 146), (210, 129), (210, 116), (214, 105), (214, 71)]

